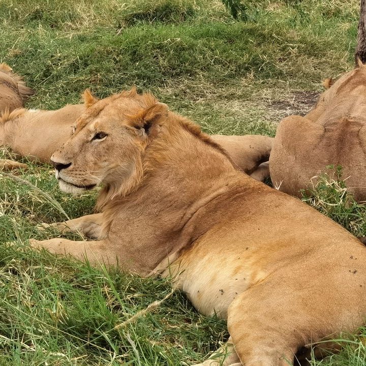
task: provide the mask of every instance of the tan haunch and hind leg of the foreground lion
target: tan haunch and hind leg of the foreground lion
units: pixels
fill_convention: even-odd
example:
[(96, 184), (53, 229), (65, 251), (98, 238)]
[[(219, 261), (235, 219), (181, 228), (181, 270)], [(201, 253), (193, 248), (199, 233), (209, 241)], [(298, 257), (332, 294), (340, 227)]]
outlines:
[[(362, 246), (354, 247), (349, 260), (356, 254), (362, 258), (363, 251)], [(342, 332), (353, 332), (364, 324), (363, 263), (360, 261), (352, 271), (348, 262), (343, 265), (338, 259), (314, 262), (308, 258), (304, 263), (283, 267), (230, 304), (228, 329), (243, 365), (292, 365), (303, 346), (321, 346), (323, 341), (339, 338)], [(324, 272), (323, 268), (337, 263), (336, 270)], [(304, 270), (310, 266), (312, 271)]]

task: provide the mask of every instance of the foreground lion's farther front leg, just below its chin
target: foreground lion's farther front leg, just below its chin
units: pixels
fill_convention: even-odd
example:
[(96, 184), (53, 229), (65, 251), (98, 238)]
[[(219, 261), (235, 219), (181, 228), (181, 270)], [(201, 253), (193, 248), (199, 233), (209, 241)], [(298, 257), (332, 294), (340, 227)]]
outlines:
[(103, 239), (106, 233), (103, 233), (102, 226), (104, 223), (103, 213), (86, 215), (81, 218), (64, 221), (62, 223), (41, 224), (38, 225), (40, 230), (49, 227), (55, 228), (62, 233), (65, 232), (81, 232), (88, 238)]

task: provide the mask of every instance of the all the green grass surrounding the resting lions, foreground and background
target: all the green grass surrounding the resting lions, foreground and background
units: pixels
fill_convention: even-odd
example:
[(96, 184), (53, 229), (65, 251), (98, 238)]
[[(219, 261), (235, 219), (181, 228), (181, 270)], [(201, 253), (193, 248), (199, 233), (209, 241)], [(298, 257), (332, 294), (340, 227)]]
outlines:
[[(0, 0), (0, 62), (37, 90), (28, 107), (135, 84), (206, 132), (273, 136), (281, 118), (311, 108), (322, 79), (353, 67), (358, 1), (250, 3), (243, 23), (213, 0)], [(0, 365), (188, 365), (227, 339), (223, 321), (167, 281), (29, 250), (29, 237), (57, 235), (37, 224), (89, 214), (97, 194), (64, 195), (51, 167), (29, 165), (0, 175)], [(304, 199), (366, 234), (364, 207), (337, 177)], [(312, 364), (364, 365), (365, 338), (361, 329)]]

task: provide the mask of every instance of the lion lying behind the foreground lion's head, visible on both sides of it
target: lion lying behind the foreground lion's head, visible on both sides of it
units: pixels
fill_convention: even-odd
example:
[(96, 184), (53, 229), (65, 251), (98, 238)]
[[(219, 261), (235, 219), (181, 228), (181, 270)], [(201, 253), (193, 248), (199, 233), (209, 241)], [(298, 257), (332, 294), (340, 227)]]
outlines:
[[(48, 162), (53, 152), (70, 138), (75, 121), (84, 110), (84, 105), (67, 105), (54, 111), (17, 109), (5, 112), (0, 116), (0, 146), (9, 147), (21, 157)], [(273, 138), (261, 135), (212, 137), (243, 171), (258, 180), (269, 176), (268, 159)], [(8, 160), (6, 166), (16, 168), (19, 163)], [(26, 166), (20, 164), (20, 167)]]

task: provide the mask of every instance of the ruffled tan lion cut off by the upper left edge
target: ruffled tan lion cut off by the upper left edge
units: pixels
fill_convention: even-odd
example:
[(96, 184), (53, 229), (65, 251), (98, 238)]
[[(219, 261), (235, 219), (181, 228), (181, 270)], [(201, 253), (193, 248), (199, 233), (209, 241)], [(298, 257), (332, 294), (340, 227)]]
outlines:
[(0, 64), (0, 113), (23, 107), (24, 101), (33, 94), (9, 65)]

